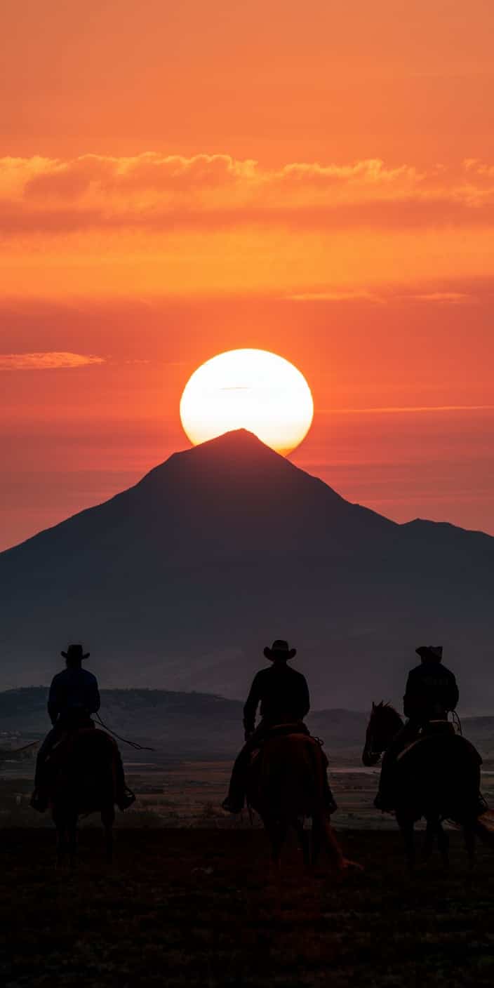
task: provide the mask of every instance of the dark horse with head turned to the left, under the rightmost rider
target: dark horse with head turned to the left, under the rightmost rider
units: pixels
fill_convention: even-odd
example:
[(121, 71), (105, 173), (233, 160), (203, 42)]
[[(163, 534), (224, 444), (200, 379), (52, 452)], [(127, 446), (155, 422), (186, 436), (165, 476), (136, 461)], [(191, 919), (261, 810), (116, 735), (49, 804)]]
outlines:
[[(362, 754), (364, 765), (377, 765), (402, 729), (403, 721), (394, 707), (383, 701), (372, 703)], [(414, 825), (421, 818), (426, 820), (424, 860), (431, 856), (437, 838), (443, 863), (449, 864), (449, 839), (443, 821), (452, 820), (462, 827), (468, 863), (472, 867), (475, 835), (492, 843), (486, 827), (478, 821), (480, 755), (465, 738), (454, 733), (448, 721), (433, 722), (420, 739), (411, 730), (410, 737), (403, 741), (403, 750), (397, 754), (391, 771), (396, 821), (410, 870), (415, 866)]]

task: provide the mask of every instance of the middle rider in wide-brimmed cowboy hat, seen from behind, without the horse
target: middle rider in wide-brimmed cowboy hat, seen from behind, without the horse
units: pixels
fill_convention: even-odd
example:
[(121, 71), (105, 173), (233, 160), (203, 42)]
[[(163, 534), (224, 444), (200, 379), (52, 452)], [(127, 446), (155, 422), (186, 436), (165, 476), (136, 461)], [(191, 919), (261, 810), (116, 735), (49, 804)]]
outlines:
[[(310, 709), (309, 692), (305, 677), (288, 666), (288, 660), (296, 654), (296, 648), (288, 648), (288, 642), (277, 639), (272, 648), (266, 647), (264, 655), (272, 666), (261, 669), (254, 677), (244, 706), (245, 745), (237, 756), (231, 774), (228, 795), (221, 803), (230, 813), (240, 813), (245, 801), (246, 776), (252, 752), (260, 748), (270, 732), (281, 725), (296, 724), (297, 733), (308, 734), (301, 721)], [(260, 705), (261, 721), (256, 723)], [(327, 782), (327, 776), (325, 775)], [(336, 809), (329, 782), (326, 791), (327, 809)]]

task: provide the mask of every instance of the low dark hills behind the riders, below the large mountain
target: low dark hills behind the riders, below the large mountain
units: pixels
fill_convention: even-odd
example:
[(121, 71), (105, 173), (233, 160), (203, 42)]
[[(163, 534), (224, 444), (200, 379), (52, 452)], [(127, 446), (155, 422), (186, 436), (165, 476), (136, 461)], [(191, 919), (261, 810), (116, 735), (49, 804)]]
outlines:
[[(101, 696), (101, 716), (109, 727), (156, 745), (170, 758), (231, 758), (243, 741), (243, 704), (238, 700), (167, 690), (103, 690)], [(43, 736), (49, 727), (46, 698), (45, 687), (0, 693), (0, 734)], [(368, 714), (359, 710), (315, 710), (307, 717), (330, 760), (344, 753), (360, 758), (367, 722)], [(483, 754), (494, 754), (494, 717), (466, 717), (463, 731)]]

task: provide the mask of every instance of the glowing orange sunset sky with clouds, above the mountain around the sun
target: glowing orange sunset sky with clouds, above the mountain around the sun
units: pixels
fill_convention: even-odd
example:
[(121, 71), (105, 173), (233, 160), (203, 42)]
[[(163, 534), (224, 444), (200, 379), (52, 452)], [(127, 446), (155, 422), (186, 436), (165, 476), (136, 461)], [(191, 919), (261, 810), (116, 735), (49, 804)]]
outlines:
[(0, 15), (0, 549), (176, 450), (223, 350), (293, 461), (494, 535), (491, 0), (25, 0)]

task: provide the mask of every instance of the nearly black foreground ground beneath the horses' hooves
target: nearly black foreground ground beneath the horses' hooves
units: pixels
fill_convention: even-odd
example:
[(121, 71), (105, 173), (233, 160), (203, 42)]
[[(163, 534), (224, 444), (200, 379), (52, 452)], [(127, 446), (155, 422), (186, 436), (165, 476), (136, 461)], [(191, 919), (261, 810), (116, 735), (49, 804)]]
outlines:
[(7, 988), (53, 985), (215, 988), (216, 985), (492, 985), (494, 855), (479, 849), (471, 881), (453, 833), (412, 882), (399, 834), (348, 832), (365, 865), (342, 881), (308, 880), (289, 847), (281, 894), (266, 877), (259, 830), (80, 836), (75, 873), (54, 869), (50, 830), (1, 831), (0, 974)]

